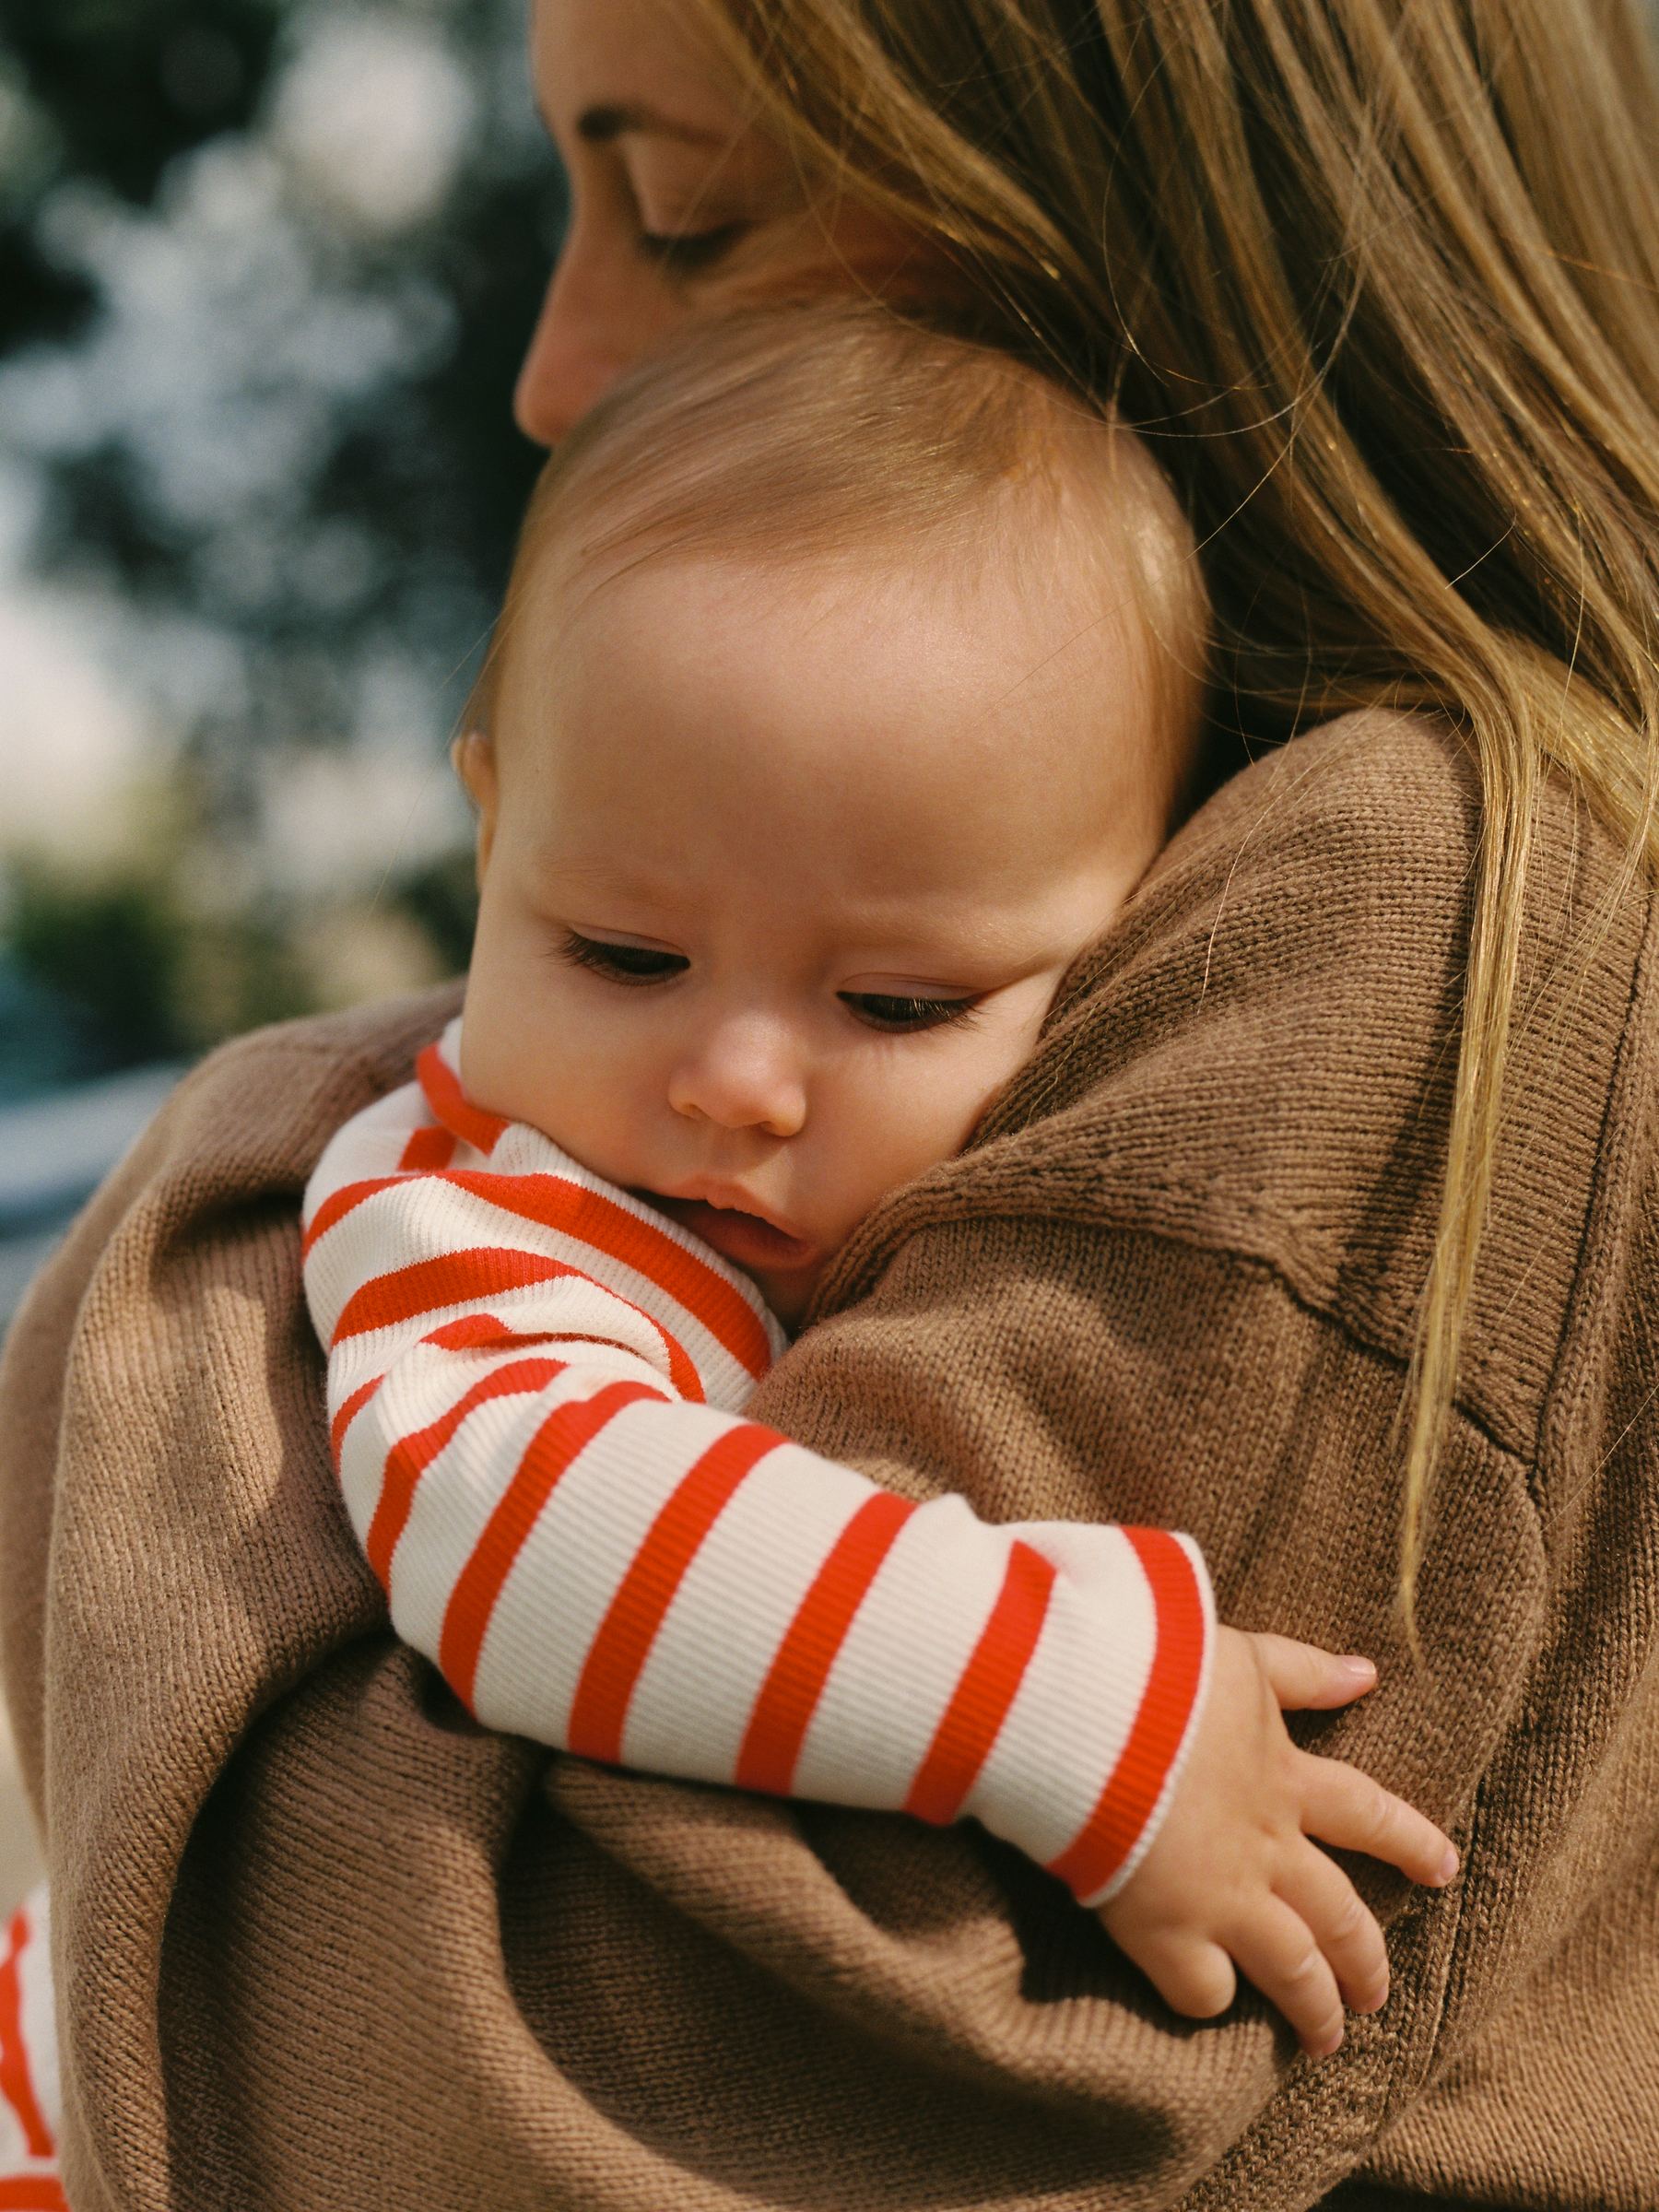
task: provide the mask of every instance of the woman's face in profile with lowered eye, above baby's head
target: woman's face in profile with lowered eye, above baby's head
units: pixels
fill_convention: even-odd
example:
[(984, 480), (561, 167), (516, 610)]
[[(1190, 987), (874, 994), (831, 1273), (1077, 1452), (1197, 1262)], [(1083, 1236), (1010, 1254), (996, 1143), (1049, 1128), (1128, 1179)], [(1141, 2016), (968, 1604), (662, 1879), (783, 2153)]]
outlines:
[(927, 285), (909, 232), (814, 195), (745, 117), (677, 0), (535, 0), (531, 66), (571, 179), (571, 228), (513, 400), (542, 445), (719, 301)]

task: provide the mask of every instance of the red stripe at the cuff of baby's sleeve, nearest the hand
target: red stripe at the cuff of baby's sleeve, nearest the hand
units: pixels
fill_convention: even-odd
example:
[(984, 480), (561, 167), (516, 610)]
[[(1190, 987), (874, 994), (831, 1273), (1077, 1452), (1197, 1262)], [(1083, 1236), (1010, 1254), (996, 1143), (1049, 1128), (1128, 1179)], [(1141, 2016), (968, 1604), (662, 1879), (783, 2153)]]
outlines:
[(1077, 1898), (1093, 1898), (1110, 1882), (1152, 1818), (1203, 1674), (1203, 1593), (1186, 1546), (1168, 1528), (1124, 1528), (1124, 1535), (1152, 1588), (1157, 1644), (1135, 1725), (1099, 1803), (1077, 1838), (1048, 1860), (1048, 1874)]

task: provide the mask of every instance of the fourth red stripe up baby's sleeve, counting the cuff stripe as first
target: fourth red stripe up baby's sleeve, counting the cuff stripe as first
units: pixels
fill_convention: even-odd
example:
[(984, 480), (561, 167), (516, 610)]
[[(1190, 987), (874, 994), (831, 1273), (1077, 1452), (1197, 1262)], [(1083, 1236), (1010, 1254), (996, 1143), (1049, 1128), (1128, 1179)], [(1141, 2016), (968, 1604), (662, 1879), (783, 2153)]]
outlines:
[(568, 1743), (584, 1759), (622, 1761), (622, 1730), (639, 1670), (661, 1628), (686, 1568), (757, 1460), (783, 1438), (759, 1422), (732, 1427), (675, 1486), (628, 1564), (606, 1617), (582, 1661), (571, 1701)]

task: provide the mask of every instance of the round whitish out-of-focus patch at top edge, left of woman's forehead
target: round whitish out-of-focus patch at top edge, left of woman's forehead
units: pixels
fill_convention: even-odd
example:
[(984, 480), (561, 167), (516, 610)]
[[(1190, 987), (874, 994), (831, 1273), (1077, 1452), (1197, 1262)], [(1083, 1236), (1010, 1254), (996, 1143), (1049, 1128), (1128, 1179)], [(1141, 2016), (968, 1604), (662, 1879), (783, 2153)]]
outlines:
[(471, 80), (431, 27), (332, 11), (303, 24), (270, 135), (316, 199), (396, 232), (442, 204), (473, 119)]

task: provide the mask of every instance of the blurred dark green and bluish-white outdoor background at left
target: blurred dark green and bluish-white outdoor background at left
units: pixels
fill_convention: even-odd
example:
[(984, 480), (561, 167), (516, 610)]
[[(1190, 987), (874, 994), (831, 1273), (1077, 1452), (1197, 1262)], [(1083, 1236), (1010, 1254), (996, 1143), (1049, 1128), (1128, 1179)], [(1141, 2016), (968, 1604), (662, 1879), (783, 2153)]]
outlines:
[(0, 0), (0, 1325), (177, 1068), (462, 967), (522, 0)]

